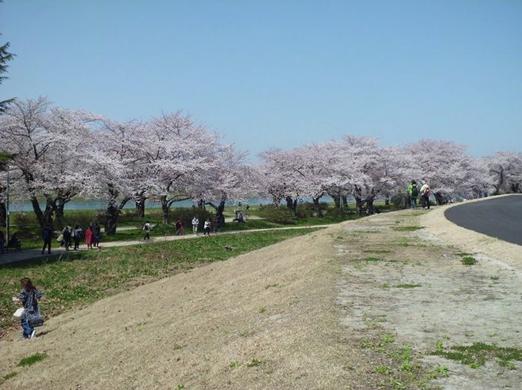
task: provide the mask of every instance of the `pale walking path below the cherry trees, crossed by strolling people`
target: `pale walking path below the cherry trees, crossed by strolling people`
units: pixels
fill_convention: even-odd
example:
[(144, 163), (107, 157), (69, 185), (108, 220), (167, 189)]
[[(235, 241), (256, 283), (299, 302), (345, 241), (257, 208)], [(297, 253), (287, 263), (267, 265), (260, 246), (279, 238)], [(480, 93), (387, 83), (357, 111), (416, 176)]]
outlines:
[[(285, 226), (282, 228), (264, 228), (264, 229), (250, 229), (244, 231), (227, 231), (221, 233), (212, 233), (212, 235), (226, 235), (226, 234), (239, 234), (239, 233), (254, 233), (260, 231), (280, 231), (280, 230), (289, 230), (289, 229), (301, 229), (301, 228), (310, 228), (310, 229), (318, 229), (318, 228), (328, 228), (329, 226), (333, 226), (335, 224), (325, 224), (325, 225), (311, 225), (311, 226)], [(125, 228), (121, 228), (120, 230), (125, 230)], [(128, 228), (126, 229), (128, 230)], [(174, 241), (174, 240), (189, 240), (203, 237), (203, 233), (197, 236), (192, 234), (187, 235), (163, 235), (161, 237), (150, 237), (150, 240), (126, 240), (126, 241), (113, 241), (113, 242), (102, 242), (100, 247), (97, 249), (87, 249), (85, 242), (81, 243), (79, 251), (94, 251), (99, 250), (102, 251), (104, 248), (111, 247), (126, 247), (128, 245), (139, 245), (139, 244), (154, 244), (155, 242), (166, 242), (166, 241)], [(53, 245), (59, 245), (56, 240), (53, 242)], [(42, 243), (43, 245), (43, 243)], [(70, 252), (74, 252), (69, 250)], [(19, 261), (29, 260), (33, 258), (45, 258), (49, 256), (54, 256), (61, 253), (67, 253), (65, 248), (63, 247), (53, 247), (51, 249), (51, 254), (42, 255), (41, 249), (26, 249), (23, 251), (10, 251), (9, 253), (4, 253), (0, 256), (0, 265), (10, 264), (10, 263), (18, 263)]]

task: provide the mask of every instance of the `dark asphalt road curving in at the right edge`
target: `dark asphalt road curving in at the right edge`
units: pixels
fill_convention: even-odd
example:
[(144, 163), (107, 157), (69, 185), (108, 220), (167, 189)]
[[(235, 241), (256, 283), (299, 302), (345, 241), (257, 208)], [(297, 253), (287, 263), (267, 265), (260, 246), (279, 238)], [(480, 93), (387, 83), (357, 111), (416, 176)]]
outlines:
[(463, 228), (522, 245), (522, 195), (462, 203), (444, 216)]

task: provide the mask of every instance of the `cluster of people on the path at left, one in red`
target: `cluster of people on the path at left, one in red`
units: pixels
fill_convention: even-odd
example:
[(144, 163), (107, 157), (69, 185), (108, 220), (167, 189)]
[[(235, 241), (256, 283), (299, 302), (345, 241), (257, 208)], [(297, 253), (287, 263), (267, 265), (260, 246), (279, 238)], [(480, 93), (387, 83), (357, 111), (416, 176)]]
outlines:
[[(89, 224), (89, 226), (86, 228), (85, 234), (84, 230), (79, 225), (74, 226), (74, 228), (70, 225), (67, 225), (65, 228), (63, 228), (60, 235), (58, 235), (56, 241), (60, 243), (61, 247), (65, 247), (66, 251), (69, 251), (72, 244), (74, 244), (73, 250), (77, 251), (80, 247), (80, 241), (84, 235), (88, 249), (100, 247), (100, 240), (102, 240), (102, 229), (96, 222)], [(47, 249), (47, 254), (51, 253), (51, 242), (53, 236), (54, 232), (52, 231), (51, 226), (45, 226), (44, 230), (42, 231), (42, 240), (44, 242), (42, 254), (45, 253), (45, 249)]]

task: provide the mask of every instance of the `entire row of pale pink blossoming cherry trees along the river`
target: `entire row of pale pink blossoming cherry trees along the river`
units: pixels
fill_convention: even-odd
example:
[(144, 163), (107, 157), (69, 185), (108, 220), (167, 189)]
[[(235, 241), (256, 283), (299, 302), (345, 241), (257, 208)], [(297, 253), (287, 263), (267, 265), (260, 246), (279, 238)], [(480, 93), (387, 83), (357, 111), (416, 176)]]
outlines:
[[(159, 200), (168, 222), (171, 205), (211, 204), (223, 221), (229, 198), (267, 197), (295, 210), (297, 201), (330, 195), (338, 208), (356, 208), (404, 194), (411, 179), (426, 180), (438, 203), (521, 192), (521, 153), (475, 159), (450, 141), (423, 140), (382, 147), (377, 139), (344, 136), (292, 150), (267, 150), (257, 164), (179, 112), (148, 122), (120, 123), (85, 111), (53, 107), (45, 98), (17, 100), (0, 116), (0, 149), (10, 162), (13, 193), (31, 201), (40, 226), (63, 221), (75, 196), (106, 200), (106, 233), (116, 232), (122, 208)], [(5, 175), (0, 192), (5, 193)], [(1, 194), (0, 194), (1, 195)], [(2, 205), (0, 196), (0, 212)], [(4, 209), (5, 210), (5, 209)]]

